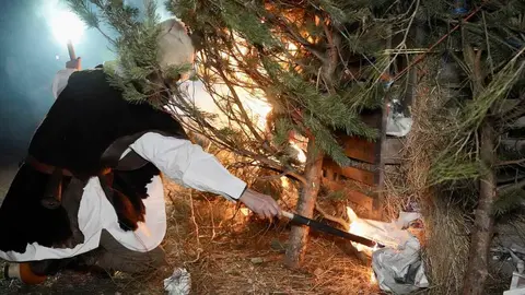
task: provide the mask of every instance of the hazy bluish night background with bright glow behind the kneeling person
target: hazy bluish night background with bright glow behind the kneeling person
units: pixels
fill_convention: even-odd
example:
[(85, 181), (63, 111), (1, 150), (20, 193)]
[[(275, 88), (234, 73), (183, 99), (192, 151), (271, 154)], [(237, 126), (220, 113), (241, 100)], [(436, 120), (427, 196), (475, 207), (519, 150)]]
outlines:
[[(51, 82), (69, 59), (49, 20), (63, 9), (58, 0), (2, 0), (0, 9), (0, 165), (25, 155), (38, 123), (52, 104)], [(82, 67), (114, 58), (107, 42), (86, 30), (75, 45)], [(58, 57), (58, 59), (57, 59)]]

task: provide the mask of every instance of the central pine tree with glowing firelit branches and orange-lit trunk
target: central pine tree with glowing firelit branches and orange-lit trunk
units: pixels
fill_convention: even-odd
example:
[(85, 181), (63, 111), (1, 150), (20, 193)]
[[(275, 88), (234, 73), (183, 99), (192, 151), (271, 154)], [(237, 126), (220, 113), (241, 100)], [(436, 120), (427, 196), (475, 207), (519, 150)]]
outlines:
[[(126, 98), (159, 105), (159, 98), (150, 93), (156, 93), (154, 90), (162, 85), (149, 78), (175, 75), (179, 69), (166, 71), (155, 63), (158, 20), (153, 1), (145, 1), (142, 19), (139, 10), (121, 1), (69, 3), (90, 26), (101, 28), (103, 20), (117, 31), (118, 38), (112, 43), (125, 71), (114, 75), (112, 82), (125, 91)], [(98, 12), (91, 10), (90, 4)], [(201, 78), (229, 125), (218, 127), (217, 116), (199, 110), (177, 88), (170, 90), (173, 96), (167, 102), (174, 116), (185, 117), (188, 129), (245, 156), (252, 165), (255, 162), (299, 180), (302, 190), (298, 213), (311, 217), (320, 187), (324, 154), (341, 165), (361, 165), (345, 155), (334, 131), (371, 140), (376, 137), (376, 131), (360, 120), (359, 113), (381, 106), (383, 88), (375, 85), (380, 69), (385, 68), (384, 60), (377, 58), (370, 67), (368, 81), (352, 81), (345, 74), (348, 69), (341, 67), (352, 56), (343, 23), (349, 21), (353, 8), (345, 11), (329, 2), (323, 7), (314, 2), (294, 7), (284, 2), (238, 1), (174, 1), (167, 7), (192, 34), (205, 36), (198, 62)], [(246, 92), (271, 106), (267, 128), (255, 122), (243, 99)], [(290, 145), (292, 133), (307, 141), (305, 165), (298, 161), (298, 152)], [(287, 260), (290, 266), (298, 266), (306, 236), (304, 227), (292, 231)]]

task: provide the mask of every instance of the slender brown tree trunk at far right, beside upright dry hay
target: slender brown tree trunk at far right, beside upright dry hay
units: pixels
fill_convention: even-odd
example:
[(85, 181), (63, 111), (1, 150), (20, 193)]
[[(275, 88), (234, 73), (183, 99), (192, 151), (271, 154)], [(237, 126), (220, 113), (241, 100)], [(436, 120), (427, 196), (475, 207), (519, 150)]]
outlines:
[(495, 132), (490, 121), (481, 127), (480, 156), (483, 165), (489, 169), (480, 179), (479, 201), (476, 210), (475, 227), (470, 239), (470, 253), (463, 294), (483, 294), (483, 286), (489, 275), (488, 261), (494, 219), (493, 204), (497, 199), (497, 179), (493, 170)]

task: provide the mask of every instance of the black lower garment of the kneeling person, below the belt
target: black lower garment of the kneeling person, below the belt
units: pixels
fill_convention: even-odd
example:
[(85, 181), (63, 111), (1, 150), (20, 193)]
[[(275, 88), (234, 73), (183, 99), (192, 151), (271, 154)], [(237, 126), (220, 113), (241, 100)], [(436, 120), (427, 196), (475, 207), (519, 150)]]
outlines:
[[(124, 231), (135, 231), (138, 222), (144, 221), (142, 200), (148, 198), (148, 184), (158, 175), (159, 169), (151, 163), (139, 169), (106, 175), (112, 182), (103, 185), (104, 192)], [(35, 241), (45, 247), (74, 248), (84, 241), (78, 227), (78, 212), (85, 181), (66, 177), (62, 204), (50, 210), (42, 205), (38, 197), (49, 177), (27, 164), (20, 167), (0, 208), (0, 228), (7, 237), (0, 239), (0, 250), (24, 252), (26, 245)]]

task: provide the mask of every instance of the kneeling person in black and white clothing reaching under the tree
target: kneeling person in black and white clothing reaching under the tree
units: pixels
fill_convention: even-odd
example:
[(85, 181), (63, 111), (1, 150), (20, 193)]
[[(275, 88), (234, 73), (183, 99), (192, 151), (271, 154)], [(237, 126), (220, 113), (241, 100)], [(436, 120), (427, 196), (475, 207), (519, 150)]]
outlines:
[[(161, 66), (192, 62), (184, 27), (174, 20), (162, 26)], [(59, 72), (57, 99), (0, 208), (0, 258), (16, 262), (9, 278), (38, 283), (73, 262), (131, 273), (164, 264), (161, 172), (261, 216), (280, 214), (273, 199), (192, 144), (170, 114), (125, 101), (104, 66), (70, 68)]]

